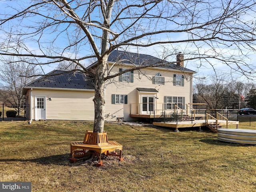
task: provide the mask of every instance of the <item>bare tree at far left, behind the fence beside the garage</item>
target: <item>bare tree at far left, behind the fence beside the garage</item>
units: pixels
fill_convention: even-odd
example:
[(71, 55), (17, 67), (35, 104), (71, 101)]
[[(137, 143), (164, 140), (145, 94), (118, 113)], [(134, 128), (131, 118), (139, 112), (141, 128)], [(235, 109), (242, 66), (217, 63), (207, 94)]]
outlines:
[[(15, 107), (20, 116), (22, 105), (25, 103), (22, 87), (36, 78), (36, 66), (22, 61), (2, 60), (0, 66), (0, 96), (4, 101)], [(30, 78), (30, 76), (34, 76)]]

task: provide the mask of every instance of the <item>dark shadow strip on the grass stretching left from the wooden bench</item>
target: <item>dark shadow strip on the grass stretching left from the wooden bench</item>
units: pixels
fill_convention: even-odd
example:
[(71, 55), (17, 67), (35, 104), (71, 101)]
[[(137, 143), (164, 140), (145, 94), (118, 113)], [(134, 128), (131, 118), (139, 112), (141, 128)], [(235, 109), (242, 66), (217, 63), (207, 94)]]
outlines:
[(69, 154), (58, 154), (35, 159), (0, 159), (0, 162), (34, 162), (42, 165), (72, 165), (69, 161)]

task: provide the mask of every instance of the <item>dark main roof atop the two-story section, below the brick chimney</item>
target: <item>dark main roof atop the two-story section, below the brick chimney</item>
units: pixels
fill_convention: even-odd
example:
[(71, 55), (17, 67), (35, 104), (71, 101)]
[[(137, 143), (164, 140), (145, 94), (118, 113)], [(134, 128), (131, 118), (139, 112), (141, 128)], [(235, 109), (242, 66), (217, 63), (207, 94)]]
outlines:
[(145, 65), (158, 66), (159, 64), (164, 64), (164, 66), (158, 66), (158, 67), (181, 70), (186, 72), (194, 72), (193, 70), (190, 70), (188, 68), (178, 66), (176, 64), (168, 64), (168, 62), (165, 60), (161, 60), (159, 58), (153, 57), (151, 55), (146, 55), (146, 54), (138, 54), (138, 53), (113, 50), (108, 57), (108, 62), (118, 62), (120, 60), (122, 60), (122, 63), (124, 64), (135, 64), (140, 66), (145, 66)]

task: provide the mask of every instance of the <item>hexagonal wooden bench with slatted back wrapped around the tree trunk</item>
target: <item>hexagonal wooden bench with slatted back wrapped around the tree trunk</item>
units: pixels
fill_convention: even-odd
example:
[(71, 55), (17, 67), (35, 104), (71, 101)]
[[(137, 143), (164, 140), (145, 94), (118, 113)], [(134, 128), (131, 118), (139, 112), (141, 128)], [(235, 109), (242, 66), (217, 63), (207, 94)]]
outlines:
[[(93, 150), (97, 152), (99, 158), (96, 166), (102, 166), (101, 154), (104, 153), (106, 156), (118, 156), (119, 161), (122, 161), (122, 149), (123, 146), (115, 141), (108, 141), (106, 132), (95, 133), (92, 131), (86, 131), (83, 141), (72, 141), (70, 142), (70, 161), (76, 162), (77, 158), (82, 158), (86, 155), (86, 150)], [(115, 152), (119, 150), (119, 154)]]

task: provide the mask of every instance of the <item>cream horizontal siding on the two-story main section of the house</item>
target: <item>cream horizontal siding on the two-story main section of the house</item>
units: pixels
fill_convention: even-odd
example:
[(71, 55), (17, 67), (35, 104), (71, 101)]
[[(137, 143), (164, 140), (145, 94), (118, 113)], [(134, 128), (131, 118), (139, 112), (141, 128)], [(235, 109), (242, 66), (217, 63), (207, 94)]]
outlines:
[[(111, 74), (119, 72), (118, 66), (114, 67)], [(152, 79), (148, 77), (155, 77), (157, 73), (160, 73), (162, 77), (165, 77), (164, 84), (153, 84)], [(142, 75), (146, 74), (146, 76)], [(141, 95), (154, 96), (155, 99), (155, 112), (161, 114), (164, 109), (164, 96), (176, 96), (178, 103), (178, 97), (184, 98), (182, 103), (192, 102), (192, 81), (191, 78), (184, 79), (184, 86), (174, 86), (174, 74), (179, 74), (177, 71), (168, 71), (166, 69), (160, 70), (159, 68), (147, 68), (138, 71), (134, 71), (133, 83), (119, 82), (118, 77), (111, 80), (114, 83), (106, 82), (105, 88), (105, 112), (106, 120), (116, 121), (116, 118), (123, 117), (124, 120), (132, 121), (136, 120), (130, 117), (131, 114), (139, 114), (141, 111), (142, 97)], [(180, 75), (183, 75), (180, 72)], [(189, 77), (189, 75), (187, 75)], [(120, 78), (120, 77), (119, 77)], [(154, 88), (158, 92), (138, 92), (136, 88)], [(178, 94), (174, 94), (178, 93)], [(128, 95), (128, 104), (112, 104), (113, 94)], [(173, 102), (173, 101), (172, 101)], [(171, 103), (171, 108), (173, 107)], [(184, 107), (184, 106), (182, 106)]]

